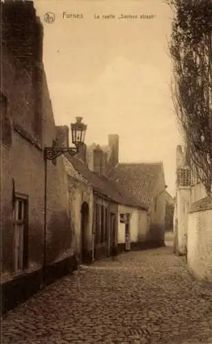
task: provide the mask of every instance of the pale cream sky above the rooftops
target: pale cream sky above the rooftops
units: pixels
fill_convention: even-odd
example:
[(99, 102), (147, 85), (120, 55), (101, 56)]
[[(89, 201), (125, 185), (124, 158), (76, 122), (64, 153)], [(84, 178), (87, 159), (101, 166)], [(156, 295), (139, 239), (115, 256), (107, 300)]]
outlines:
[[(43, 59), (56, 125), (83, 116), (86, 144), (106, 144), (108, 133), (117, 133), (120, 162), (163, 160), (174, 195), (180, 136), (170, 94), (172, 11), (163, 0), (34, 2), (44, 24)], [(47, 11), (54, 12), (54, 23), (43, 20)], [(95, 19), (97, 14), (115, 19)], [(120, 20), (121, 14), (154, 18)]]

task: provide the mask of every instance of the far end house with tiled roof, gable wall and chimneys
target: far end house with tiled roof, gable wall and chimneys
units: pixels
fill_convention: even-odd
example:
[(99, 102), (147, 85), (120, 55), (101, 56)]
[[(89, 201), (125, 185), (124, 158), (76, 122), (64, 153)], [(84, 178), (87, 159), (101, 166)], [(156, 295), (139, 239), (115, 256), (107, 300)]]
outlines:
[[(110, 134), (108, 144), (88, 147), (86, 161), (89, 169), (98, 175), (106, 175), (110, 181), (119, 184), (130, 197), (146, 209), (147, 233), (140, 234), (139, 240), (131, 241), (131, 248), (164, 246), (165, 233), (165, 177), (162, 162), (120, 163), (119, 136)], [(121, 213), (121, 211), (120, 211)], [(125, 221), (128, 221), (129, 216)], [(132, 217), (132, 220), (135, 217)], [(138, 221), (140, 221), (138, 219)], [(141, 217), (141, 222), (143, 217)]]

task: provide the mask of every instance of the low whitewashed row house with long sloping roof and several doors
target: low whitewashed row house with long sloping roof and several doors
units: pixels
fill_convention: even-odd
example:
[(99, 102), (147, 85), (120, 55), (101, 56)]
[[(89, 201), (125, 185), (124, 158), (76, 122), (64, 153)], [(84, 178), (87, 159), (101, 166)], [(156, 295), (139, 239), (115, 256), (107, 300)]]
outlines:
[[(77, 228), (80, 260), (89, 263), (109, 257), (115, 247), (119, 252), (130, 250), (132, 241), (138, 241), (139, 236), (145, 237), (148, 232), (148, 212), (117, 182), (91, 171), (82, 158), (86, 155), (80, 155), (71, 158), (67, 154), (64, 159), (71, 183), (71, 212), (73, 208), (80, 214), (78, 219), (71, 216), (73, 228)], [(81, 185), (71, 182), (79, 178)]]

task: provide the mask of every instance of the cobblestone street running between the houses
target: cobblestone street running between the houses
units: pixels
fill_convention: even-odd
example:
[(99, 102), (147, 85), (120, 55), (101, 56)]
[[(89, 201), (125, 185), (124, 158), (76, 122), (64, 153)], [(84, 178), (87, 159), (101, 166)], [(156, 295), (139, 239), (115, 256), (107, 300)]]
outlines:
[(8, 312), (7, 343), (212, 343), (212, 290), (172, 247), (104, 259)]

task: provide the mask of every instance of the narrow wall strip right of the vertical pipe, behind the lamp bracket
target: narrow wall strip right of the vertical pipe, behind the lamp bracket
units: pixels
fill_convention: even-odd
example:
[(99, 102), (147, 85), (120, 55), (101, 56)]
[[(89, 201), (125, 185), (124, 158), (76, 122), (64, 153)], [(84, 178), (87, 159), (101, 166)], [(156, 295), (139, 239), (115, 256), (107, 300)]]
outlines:
[[(47, 79), (43, 70), (43, 143), (50, 146), (56, 140), (56, 127)], [(56, 165), (47, 162), (47, 232), (49, 246), (47, 259), (50, 262), (59, 259), (71, 247), (71, 228), (69, 219), (68, 181), (63, 158), (57, 159)]]

